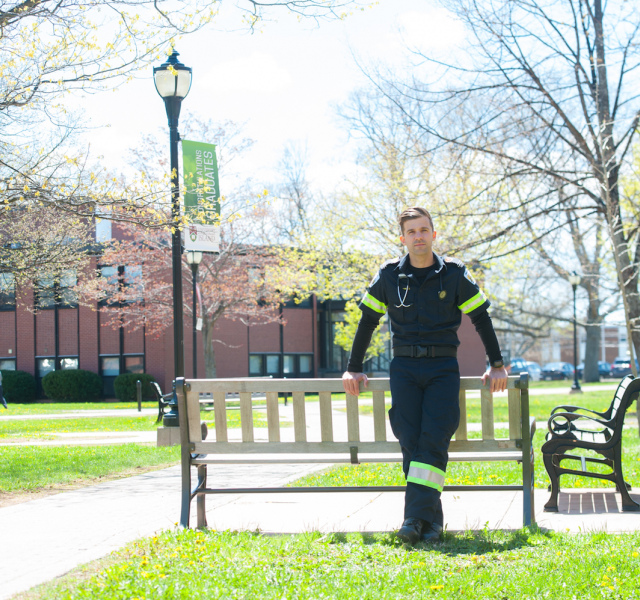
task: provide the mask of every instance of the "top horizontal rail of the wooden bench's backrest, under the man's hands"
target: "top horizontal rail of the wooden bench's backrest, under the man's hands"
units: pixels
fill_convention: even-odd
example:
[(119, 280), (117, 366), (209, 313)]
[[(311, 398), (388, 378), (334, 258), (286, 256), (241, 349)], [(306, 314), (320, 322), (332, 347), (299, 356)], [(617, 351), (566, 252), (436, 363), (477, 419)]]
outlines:
[[(508, 389), (516, 387), (517, 379), (512, 377), (507, 382)], [(189, 380), (194, 392), (208, 394), (211, 392), (225, 392), (234, 394), (239, 392), (262, 393), (265, 392), (334, 392), (344, 393), (341, 379), (193, 379)], [(364, 391), (364, 388), (362, 388)], [(460, 379), (461, 390), (482, 390), (479, 377), (462, 377)], [(368, 391), (389, 391), (389, 378), (381, 377), (370, 379)]]

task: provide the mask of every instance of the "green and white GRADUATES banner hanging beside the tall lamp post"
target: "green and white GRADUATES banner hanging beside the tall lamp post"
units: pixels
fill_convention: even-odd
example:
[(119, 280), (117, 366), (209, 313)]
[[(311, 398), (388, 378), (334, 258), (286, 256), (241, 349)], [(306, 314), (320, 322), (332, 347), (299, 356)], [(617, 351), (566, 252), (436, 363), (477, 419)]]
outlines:
[(214, 144), (182, 140), (186, 250), (220, 249), (220, 185)]

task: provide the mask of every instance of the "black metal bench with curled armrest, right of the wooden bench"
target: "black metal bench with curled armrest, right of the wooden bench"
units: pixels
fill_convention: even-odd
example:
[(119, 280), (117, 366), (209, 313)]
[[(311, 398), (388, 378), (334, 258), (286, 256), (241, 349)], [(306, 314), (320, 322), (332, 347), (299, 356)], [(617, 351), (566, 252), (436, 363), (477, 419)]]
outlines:
[[(544, 505), (547, 512), (557, 512), (560, 475), (582, 475), (612, 481), (622, 497), (623, 511), (640, 510), (629, 496), (631, 486), (622, 476), (622, 428), (625, 413), (640, 392), (640, 378), (625, 377), (618, 385), (611, 405), (605, 412), (579, 406), (557, 406), (549, 417), (549, 432), (542, 445), (544, 466), (551, 480), (551, 498)], [(584, 454), (567, 454), (575, 450), (591, 451), (602, 458)], [(580, 462), (580, 469), (562, 466), (562, 461)], [(610, 473), (589, 471), (588, 463), (606, 465)]]

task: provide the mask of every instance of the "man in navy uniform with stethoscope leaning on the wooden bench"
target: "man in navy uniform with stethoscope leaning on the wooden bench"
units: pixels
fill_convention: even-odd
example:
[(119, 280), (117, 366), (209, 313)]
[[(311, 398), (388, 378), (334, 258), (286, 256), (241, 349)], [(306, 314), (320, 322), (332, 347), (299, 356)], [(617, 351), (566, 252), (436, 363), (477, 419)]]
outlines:
[(500, 346), (487, 313), (489, 300), (463, 263), (432, 250), (436, 232), (427, 210), (403, 211), (400, 241), (408, 254), (387, 261), (373, 278), (360, 309), (344, 389), (357, 396), (367, 385), (364, 356), (380, 318), (388, 313), (393, 340), (389, 421), (400, 441), (407, 480), (404, 522), (397, 537), (408, 544), (436, 541), (443, 528), (440, 494), (449, 442), (460, 420), (456, 358), (462, 313), (471, 317), (489, 357), (482, 376), (492, 392), (507, 385)]

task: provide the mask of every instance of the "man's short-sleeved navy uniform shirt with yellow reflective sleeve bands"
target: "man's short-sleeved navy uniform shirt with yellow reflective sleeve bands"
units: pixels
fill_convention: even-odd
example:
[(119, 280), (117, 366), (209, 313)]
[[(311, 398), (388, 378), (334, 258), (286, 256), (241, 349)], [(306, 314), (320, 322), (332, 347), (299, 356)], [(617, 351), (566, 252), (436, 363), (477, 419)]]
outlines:
[(363, 313), (377, 320), (389, 313), (394, 348), (457, 347), (462, 313), (473, 317), (489, 307), (489, 300), (462, 262), (435, 253), (433, 258), (436, 268), (420, 288), (408, 271), (407, 254), (382, 265), (362, 298)]

